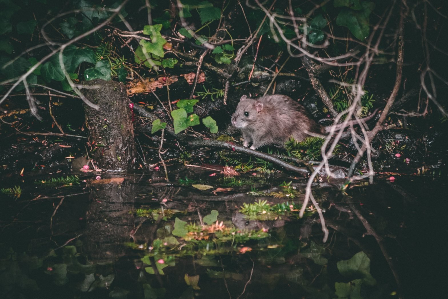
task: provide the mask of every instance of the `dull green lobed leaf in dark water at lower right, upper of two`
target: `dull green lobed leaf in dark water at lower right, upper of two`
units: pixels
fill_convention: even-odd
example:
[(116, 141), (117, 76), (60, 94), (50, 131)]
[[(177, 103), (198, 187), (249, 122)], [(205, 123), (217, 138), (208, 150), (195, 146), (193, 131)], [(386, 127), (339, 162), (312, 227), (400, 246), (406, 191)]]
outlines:
[(360, 278), (369, 286), (374, 286), (376, 280), (370, 275), (370, 259), (362, 251), (349, 260), (340, 260), (336, 263), (337, 269), (345, 277)]

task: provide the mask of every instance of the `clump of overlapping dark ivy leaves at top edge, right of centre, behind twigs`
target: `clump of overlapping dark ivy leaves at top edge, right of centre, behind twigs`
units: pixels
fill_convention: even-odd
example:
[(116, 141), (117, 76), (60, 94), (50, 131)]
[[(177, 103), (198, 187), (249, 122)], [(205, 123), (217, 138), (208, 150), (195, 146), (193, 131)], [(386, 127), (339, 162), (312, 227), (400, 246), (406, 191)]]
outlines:
[(359, 40), (364, 40), (370, 32), (370, 13), (375, 9), (375, 3), (361, 0), (335, 0), (335, 7), (347, 7), (336, 17), (336, 24), (349, 28)]

